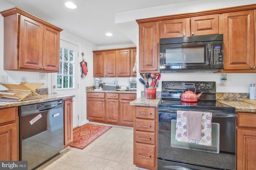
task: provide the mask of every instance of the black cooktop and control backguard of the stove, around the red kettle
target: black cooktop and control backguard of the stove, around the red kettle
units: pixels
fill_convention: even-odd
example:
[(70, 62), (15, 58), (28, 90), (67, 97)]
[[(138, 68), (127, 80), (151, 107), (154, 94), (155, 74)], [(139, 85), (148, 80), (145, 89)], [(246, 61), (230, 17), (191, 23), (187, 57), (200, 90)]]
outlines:
[[(181, 94), (186, 90), (202, 93), (197, 102), (182, 102)], [(228, 111), (235, 112), (231, 107), (216, 101), (216, 82), (192, 82), (192, 81), (163, 81), (162, 99), (159, 108), (193, 109), (202, 111)]]

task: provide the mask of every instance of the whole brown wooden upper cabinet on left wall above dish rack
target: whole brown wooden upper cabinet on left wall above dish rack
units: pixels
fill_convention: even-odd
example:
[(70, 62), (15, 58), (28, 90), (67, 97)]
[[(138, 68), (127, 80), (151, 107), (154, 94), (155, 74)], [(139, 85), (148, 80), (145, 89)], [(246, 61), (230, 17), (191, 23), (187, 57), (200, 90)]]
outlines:
[(4, 16), (4, 70), (59, 72), (60, 31), (19, 8)]

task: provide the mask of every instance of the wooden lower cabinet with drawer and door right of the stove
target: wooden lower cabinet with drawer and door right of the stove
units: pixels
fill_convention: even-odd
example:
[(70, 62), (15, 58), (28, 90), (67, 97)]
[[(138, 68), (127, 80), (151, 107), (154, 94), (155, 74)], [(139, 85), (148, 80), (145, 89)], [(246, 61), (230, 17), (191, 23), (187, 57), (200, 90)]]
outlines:
[(256, 169), (256, 113), (238, 113), (236, 170)]

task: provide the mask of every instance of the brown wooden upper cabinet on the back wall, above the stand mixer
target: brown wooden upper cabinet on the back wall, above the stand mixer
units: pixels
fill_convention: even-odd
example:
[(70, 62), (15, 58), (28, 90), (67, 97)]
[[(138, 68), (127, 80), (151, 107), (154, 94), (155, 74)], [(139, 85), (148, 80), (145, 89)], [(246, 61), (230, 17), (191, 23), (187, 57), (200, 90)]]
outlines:
[(93, 76), (136, 76), (136, 74), (132, 72), (135, 61), (135, 47), (93, 51)]

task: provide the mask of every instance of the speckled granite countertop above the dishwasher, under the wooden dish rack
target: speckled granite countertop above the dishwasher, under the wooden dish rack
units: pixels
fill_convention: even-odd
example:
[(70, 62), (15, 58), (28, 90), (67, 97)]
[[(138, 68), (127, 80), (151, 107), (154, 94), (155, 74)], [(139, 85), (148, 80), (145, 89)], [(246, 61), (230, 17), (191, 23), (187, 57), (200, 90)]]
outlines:
[(43, 94), (44, 98), (33, 99), (33, 100), (26, 100), (21, 102), (0, 102), (0, 108), (6, 107), (14, 107), (14, 106), (24, 106), (28, 104), (36, 104), (42, 102), (50, 102), (54, 100), (66, 99), (66, 98), (73, 98), (75, 95), (62, 95), (62, 94)]

